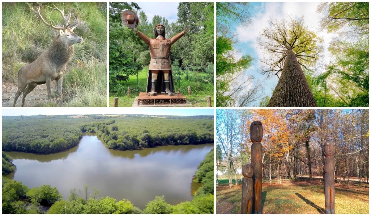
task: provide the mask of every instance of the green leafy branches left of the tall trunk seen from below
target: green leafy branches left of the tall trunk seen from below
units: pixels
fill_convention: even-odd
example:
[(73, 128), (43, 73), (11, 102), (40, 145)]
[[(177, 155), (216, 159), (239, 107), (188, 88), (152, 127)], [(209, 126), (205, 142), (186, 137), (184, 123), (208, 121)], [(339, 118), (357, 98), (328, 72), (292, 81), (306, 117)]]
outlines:
[(244, 107), (261, 100), (259, 89), (263, 86), (244, 71), (252, 66), (253, 58), (234, 50), (236, 41), (228, 30), (232, 24), (250, 25), (250, 4), (246, 2), (217, 2), (216, 36), (216, 104), (219, 107)]

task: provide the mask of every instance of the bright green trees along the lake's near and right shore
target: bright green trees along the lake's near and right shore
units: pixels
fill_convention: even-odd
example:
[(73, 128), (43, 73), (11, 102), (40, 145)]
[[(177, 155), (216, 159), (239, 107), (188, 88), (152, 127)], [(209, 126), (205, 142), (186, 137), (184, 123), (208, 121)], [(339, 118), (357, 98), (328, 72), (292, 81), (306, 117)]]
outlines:
[[(156, 196), (147, 203), (144, 210), (135, 207), (129, 200), (117, 201), (112, 197), (102, 197), (96, 188), (91, 192), (85, 185), (81, 197), (76, 189), (71, 189), (68, 200), (63, 200), (56, 189), (42, 185), (32, 189), (21, 182), (2, 178), (3, 214), (214, 214), (214, 150), (211, 150), (198, 166), (197, 181), (201, 183), (191, 201), (178, 205), (166, 203), (164, 196)], [(49, 206), (43, 212), (39, 206)]]

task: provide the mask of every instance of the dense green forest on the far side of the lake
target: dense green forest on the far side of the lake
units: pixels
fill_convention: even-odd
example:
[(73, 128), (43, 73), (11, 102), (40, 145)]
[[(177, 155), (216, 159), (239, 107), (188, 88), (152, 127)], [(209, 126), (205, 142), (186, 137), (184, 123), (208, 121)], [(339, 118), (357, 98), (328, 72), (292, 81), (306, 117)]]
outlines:
[[(188, 116), (189, 117), (189, 116)], [(99, 118), (99, 119), (98, 119)], [(159, 116), (108, 117), (11, 116), (3, 117), (4, 151), (56, 153), (78, 144), (83, 132), (96, 132), (115, 150), (214, 142), (214, 120), (169, 119)]]

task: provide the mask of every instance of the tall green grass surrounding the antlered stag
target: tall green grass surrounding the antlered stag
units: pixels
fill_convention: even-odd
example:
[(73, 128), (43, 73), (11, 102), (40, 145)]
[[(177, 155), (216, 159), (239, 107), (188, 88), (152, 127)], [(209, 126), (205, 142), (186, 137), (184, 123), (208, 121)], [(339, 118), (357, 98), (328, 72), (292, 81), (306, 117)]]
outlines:
[[(62, 9), (62, 3), (55, 4)], [(60, 13), (46, 5), (52, 6), (52, 3), (42, 3), (40, 13), (44, 19), (61, 26)], [(105, 2), (65, 3), (65, 15), (70, 11), (72, 22), (75, 17), (81, 21), (74, 32), (83, 38), (83, 43), (75, 45), (75, 55), (64, 76), (63, 106), (106, 106), (106, 7)], [(20, 67), (32, 63), (48, 49), (58, 31), (37, 19), (26, 3), (2, 3), (2, 20), (2, 80), (16, 84)]]

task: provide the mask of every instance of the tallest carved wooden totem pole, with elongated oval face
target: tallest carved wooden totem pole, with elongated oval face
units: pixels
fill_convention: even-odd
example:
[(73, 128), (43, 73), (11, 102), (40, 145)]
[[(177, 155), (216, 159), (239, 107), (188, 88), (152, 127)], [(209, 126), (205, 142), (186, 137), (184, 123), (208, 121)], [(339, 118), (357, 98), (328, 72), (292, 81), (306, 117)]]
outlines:
[(262, 159), (263, 147), (260, 144), (263, 138), (263, 125), (260, 121), (254, 121), (250, 125), (251, 165), (253, 166), (253, 213), (262, 213)]

